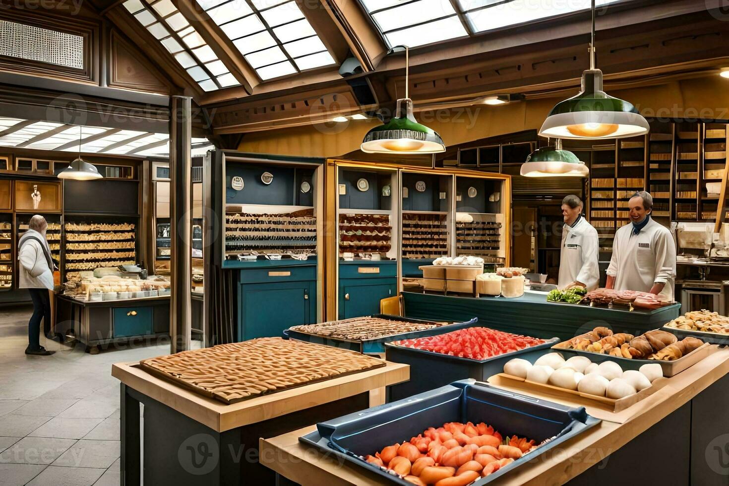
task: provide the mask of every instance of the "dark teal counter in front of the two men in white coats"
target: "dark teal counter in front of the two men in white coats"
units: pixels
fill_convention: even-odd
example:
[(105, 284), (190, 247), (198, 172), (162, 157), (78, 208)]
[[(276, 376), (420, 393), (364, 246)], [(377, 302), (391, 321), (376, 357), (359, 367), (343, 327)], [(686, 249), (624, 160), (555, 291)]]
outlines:
[(478, 318), (480, 326), (504, 332), (567, 340), (598, 326), (613, 332), (642, 334), (658, 329), (679, 316), (680, 304), (658, 310), (622, 310), (588, 305), (547, 302), (545, 294), (523, 297), (451, 297), (440, 294), (402, 293), (405, 315), (412, 318), (459, 321)]

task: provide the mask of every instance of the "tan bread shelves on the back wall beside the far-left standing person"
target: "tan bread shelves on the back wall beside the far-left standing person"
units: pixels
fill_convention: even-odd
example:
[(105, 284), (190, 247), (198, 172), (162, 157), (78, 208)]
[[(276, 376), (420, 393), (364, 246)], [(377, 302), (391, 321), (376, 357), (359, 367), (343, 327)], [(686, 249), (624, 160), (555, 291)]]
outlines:
[(136, 263), (136, 225), (130, 222), (66, 222), (66, 280), (82, 271)]

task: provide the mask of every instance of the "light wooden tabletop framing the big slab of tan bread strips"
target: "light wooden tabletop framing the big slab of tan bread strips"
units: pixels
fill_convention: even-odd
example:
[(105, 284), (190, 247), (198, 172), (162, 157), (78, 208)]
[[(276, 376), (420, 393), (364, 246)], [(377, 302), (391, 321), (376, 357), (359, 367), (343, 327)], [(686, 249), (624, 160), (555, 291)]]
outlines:
[(166, 404), (214, 431), (222, 432), (402, 383), (410, 379), (410, 366), (387, 362), (385, 367), (289, 388), (230, 405), (149, 375), (139, 367), (137, 361), (113, 364), (112, 376), (133, 390)]

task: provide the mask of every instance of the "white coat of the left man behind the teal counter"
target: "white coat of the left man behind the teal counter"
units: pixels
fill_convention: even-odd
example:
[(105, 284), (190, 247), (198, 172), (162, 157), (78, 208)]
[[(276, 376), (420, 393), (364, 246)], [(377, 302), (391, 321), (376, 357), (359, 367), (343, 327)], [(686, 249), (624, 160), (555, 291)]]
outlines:
[(598, 254), (597, 230), (592, 224), (582, 216), (574, 227), (565, 224), (559, 252), (558, 287), (564, 289), (570, 283), (580, 281), (588, 290), (596, 289), (600, 281)]

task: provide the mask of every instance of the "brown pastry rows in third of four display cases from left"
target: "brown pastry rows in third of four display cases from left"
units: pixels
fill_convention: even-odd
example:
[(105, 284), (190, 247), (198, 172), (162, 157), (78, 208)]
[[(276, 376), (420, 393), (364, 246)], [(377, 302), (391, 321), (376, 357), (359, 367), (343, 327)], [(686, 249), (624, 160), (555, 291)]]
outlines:
[(448, 236), (446, 211), (402, 211), (402, 258), (448, 256)]

